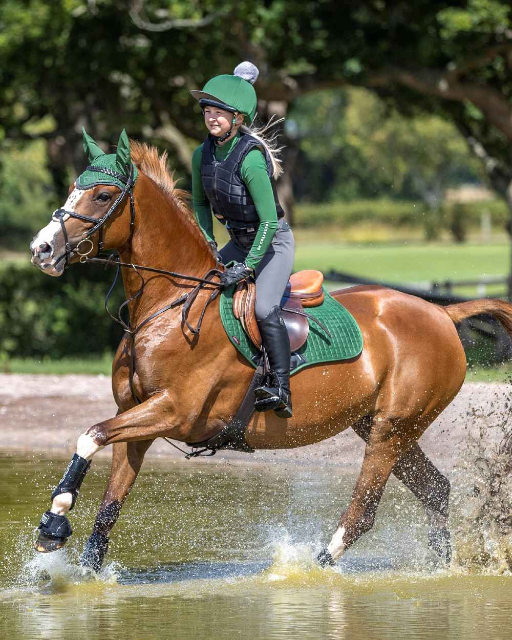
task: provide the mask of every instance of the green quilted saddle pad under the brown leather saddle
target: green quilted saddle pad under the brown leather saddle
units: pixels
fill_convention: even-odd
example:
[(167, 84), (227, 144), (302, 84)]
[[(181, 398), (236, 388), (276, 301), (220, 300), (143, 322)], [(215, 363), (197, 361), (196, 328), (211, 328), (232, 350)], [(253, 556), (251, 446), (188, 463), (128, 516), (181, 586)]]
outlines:
[[(318, 324), (308, 320), (308, 339), (298, 351), (292, 353), (291, 374), (319, 362), (355, 358), (363, 350), (363, 336), (355, 318), (324, 287), (322, 288), (325, 296), (323, 303), (319, 307), (305, 308), (305, 312), (316, 317), (326, 326), (332, 337), (329, 337)], [(235, 287), (233, 286), (221, 293), (220, 317), (222, 324), (232, 344), (253, 367), (256, 367), (259, 351), (233, 315), (234, 292)]]

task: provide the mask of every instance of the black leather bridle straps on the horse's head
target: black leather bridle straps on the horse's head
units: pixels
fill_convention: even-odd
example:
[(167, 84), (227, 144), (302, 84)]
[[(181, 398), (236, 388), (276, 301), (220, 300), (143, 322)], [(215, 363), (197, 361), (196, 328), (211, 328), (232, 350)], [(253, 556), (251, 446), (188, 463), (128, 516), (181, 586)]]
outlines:
[[(54, 266), (59, 264), (59, 262), (62, 259), (65, 259), (64, 269), (68, 268), (69, 259), (71, 257), (72, 252), (74, 252), (74, 250), (77, 250), (77, 253), (79, 253), (79, 255), (81, 256), (80, 260), (82, 260), (82, 258), (84, 258), (87, 255), (89, 255), (90, 252), (92, 252), (93, 242), (92, 242), (92, 240), (90, 238), (97, 231), (99, 231), (98, 252), (100, 252), (102, 250), (102, 248), (103, 248), (103, 225), (110, 218), (110, 216), (113, 214), (113, 212), (117, 209), (118, 205), (120, 205), (120, 203), (122, 202), (124, 196), (127, 193), (129, 193), (129, 196), (130, 196), (130, 211), (131, 211), (130, 227), (133, 228), (133, 225), (135, 223), (135, 204), (134, 204), (134, 199), (133, 199), (133, 188), (134, 188), (135, 182), (133, 180), (133, 164), (130, 164), (130, 172), (129, 172), (128, 177), (126, 177), (125, 175), (122, 175), (121, 173), (116, 173), (115, 171), (112, 171), (111, 169), (106, 169), (106, 168), (103, 168), (103, 167), (100, 167), (100, 166), (88, 166), (86, 168), (86, 171), (94, 171), (94, 172), (99, 172), (99, 173), (106, 173), (107, 175), (110, 175), (110, 176), (120, 180), (120, 182), (122, 182), (124, 184), (124, 189), (122, 189), (121, 193), (117, 196), (114, 204), (110, 207), (110, 209), (106, 212), (106, 214), (104, 216), (102, 216), (102, 218), (99, 218), (99, 220), (97, 218), (92, 218), (91, 216), (83, 216), (81, 213), (76, 213), (74, 211), (66, 211), (66, 209), (56, 209), (56, 211), (53, 212), (52, 220), (60, 222), (60, 226), (62, 228), (62, 234), (64, 236), (64, 241), (65, 241), (65, 252), (55, 260)], [(92, 185), (92, 186), (95, 186), (95, 185)], [(68, 216), (69, 218), (77, 218), (77, 220), (83, 220), (84, 222), (90, 222), (93, 225), (91, 228), (88, 228), (83, 232), (82, 239), (73, 247), (69, 244), (68, 234), (67, 234), (67, 231), (66, 231), (66, 225), (64, 223), (65, 222), (65, 220), (64, 220), (65, 216)], [(91, 244), (91, 246), (90, 246), (90, 249), (88, 250), (88, 252), (80, 253), (79, 247), (80, 247), (81, 243), (83, 243), (84, 241), (88, 241)]]

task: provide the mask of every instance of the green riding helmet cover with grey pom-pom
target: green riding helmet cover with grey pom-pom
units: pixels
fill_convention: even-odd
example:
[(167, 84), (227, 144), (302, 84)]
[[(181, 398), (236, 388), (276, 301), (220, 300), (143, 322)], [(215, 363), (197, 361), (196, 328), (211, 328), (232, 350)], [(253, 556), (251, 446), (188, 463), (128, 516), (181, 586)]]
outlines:
[(202, 91), (191, 91), (192, 96), (199, 100), (201, 107), (211, 104), (214, 107), (241, 113), (248, 124), (256, 115), (257, 98), (252, 86), (259, 71), (251, 62), (241, 62), (233, 75), (224, 74), (209, 80)]

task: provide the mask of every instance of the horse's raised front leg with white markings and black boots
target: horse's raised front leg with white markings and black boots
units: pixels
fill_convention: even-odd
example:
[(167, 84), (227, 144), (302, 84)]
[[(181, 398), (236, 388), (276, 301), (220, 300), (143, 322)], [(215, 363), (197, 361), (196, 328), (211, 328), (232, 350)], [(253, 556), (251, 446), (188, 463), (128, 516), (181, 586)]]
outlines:
[(90, 427), (77, 440), (77, 449), (60, 483), (54, 489), (52, 506), (42, 515), (35, 542), (36, 551), (56, 551), (72, 534), (66, 513), (75, 504), (79, 488), (95, 453), (113, 442), (152, 440), (174, 426), (173, 412), (166, 394), (156, 394), (138, 406)]

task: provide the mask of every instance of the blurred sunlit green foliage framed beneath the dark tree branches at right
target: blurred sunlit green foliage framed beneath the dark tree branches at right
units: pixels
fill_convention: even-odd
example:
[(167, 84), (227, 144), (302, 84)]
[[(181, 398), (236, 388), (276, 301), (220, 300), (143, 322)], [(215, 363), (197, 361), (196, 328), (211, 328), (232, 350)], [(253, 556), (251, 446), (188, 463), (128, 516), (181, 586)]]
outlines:
[(435, 209), (447, 187), (482, 179), (454, 125), (437, 115), (406, 118), (364, 89), (297, 99), (287, 131), (301, 152), (296, 195), (315, 202), (387, 195)]

